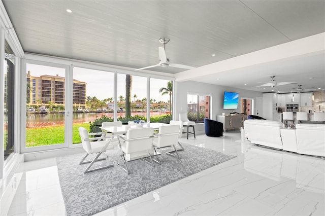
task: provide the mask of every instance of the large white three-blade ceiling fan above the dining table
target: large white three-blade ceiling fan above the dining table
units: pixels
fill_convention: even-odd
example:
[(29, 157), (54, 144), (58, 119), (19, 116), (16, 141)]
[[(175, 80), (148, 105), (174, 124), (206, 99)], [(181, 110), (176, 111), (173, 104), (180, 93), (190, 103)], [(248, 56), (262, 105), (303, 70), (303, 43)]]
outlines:
[(164, 47), (158, 47), (158, 52), (159, 52), (159, 63), (155, 64), (155, 65), (151, 65), (151, 66), (147, 66), (147, 67), (142, 67), (142, 68), (138, 68), (135, 70), (141, 70), (141, 69), (147, 69), (147, 68), (151, 68), (151, 67), (178, 67), (178, 68), (184, 68), (184, 69), (192, 69), (195, 67), (191, 67), (188, 65), (184, 65), (184, 64), (175, 64), (175, 63), (170, 63), (169, 58), (166, 57), (166, 44), (169, 42), (169, 38), (161, 38), (159, 39), (159, 42), (161, 44), (164, 44)]

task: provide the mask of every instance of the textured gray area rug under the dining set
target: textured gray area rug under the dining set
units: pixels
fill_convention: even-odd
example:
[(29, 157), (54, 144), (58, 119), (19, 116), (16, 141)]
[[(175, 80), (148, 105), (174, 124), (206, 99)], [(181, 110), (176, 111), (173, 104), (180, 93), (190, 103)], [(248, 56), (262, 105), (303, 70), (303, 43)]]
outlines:
[(85, 153), (58, 157), (57, 169), (67, 215), (98, 213), (236, 157), (186, 143), (182, 146), (181, 160), (160, 149), (163, 153), (159, 157), (160, 166), (152, 167), (142, 160), (131, 161), (128, 162), (131, 172), (128, 175), (116, 165), (123, 164), (117, 147), (107, 151), (107, 160), (95, 162), (92, 168), (116, 166), (86, 174), (84, 170), (88, 164), (79, 165)]

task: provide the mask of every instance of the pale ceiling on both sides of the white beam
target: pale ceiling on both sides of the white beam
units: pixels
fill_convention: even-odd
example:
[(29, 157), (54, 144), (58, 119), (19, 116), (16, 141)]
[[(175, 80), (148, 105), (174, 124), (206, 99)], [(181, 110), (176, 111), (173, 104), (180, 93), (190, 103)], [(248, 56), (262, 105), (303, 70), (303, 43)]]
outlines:
[[(298, 85), (325, 88), (325, 39), (322, 52), (206, 76), (200, 72), (205, 65), (325, 32), (325, 1), (2, 2), (28, 53), (140, 68), (159, 62), (158, 40), (165, 37), (170, 39), (166, 54), (171, 62), (200, 67), (188, 80), (269, 92), (270, 87), (252, 86), (275, 75), (277, 82), (298, 82), (275, 91), (289, 92)], [(191, 71), (150, 70), (183, 80)]]

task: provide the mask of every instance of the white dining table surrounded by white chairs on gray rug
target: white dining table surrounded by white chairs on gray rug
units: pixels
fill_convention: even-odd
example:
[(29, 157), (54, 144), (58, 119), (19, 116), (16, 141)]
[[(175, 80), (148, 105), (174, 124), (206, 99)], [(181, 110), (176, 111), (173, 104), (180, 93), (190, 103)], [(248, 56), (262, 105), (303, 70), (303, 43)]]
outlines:
[[(169, 125), (169, 124), (155, 122), (155, 123), (147, 123), (144, 125), (120, 125), (120, 126), (100, 127), (100, 128), (103, 132), (106, 133), (106, 136), (108, 136), (110, 134), (112, 136), (111, 140), (113, 140), (116, 135), (126, 134), (127, 130), (130, 128), (152, 127), (153, 129), (159, 129), (160, 126), (165, 126), (165, 125)], [(152, 149), (152, 152), (150, 152), (150, 154), (155, 155), (155, 152), (153, 149)], [(157, 152), (157, 155), (159, 155), (159, 154), (160, 153)], [(136, 160), (136, 159), (143, 158), (143, 157), (147, 157), (146, 151), (136, 152), (136, 153), (125, 155), (125, 159), (127, 161)]]

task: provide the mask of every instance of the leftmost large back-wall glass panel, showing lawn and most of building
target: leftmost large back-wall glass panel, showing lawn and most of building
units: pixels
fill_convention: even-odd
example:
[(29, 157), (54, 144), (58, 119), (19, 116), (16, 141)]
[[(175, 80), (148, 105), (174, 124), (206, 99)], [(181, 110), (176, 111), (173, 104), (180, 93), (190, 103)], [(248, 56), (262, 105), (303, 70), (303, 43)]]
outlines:
[[(26, 63), (26, 139), (30, 151), (67, 147), (67, 67)], [(68, 113), (66, 113), (68, 112)], [(33, 149), (34, 148), (34, 149)]]

